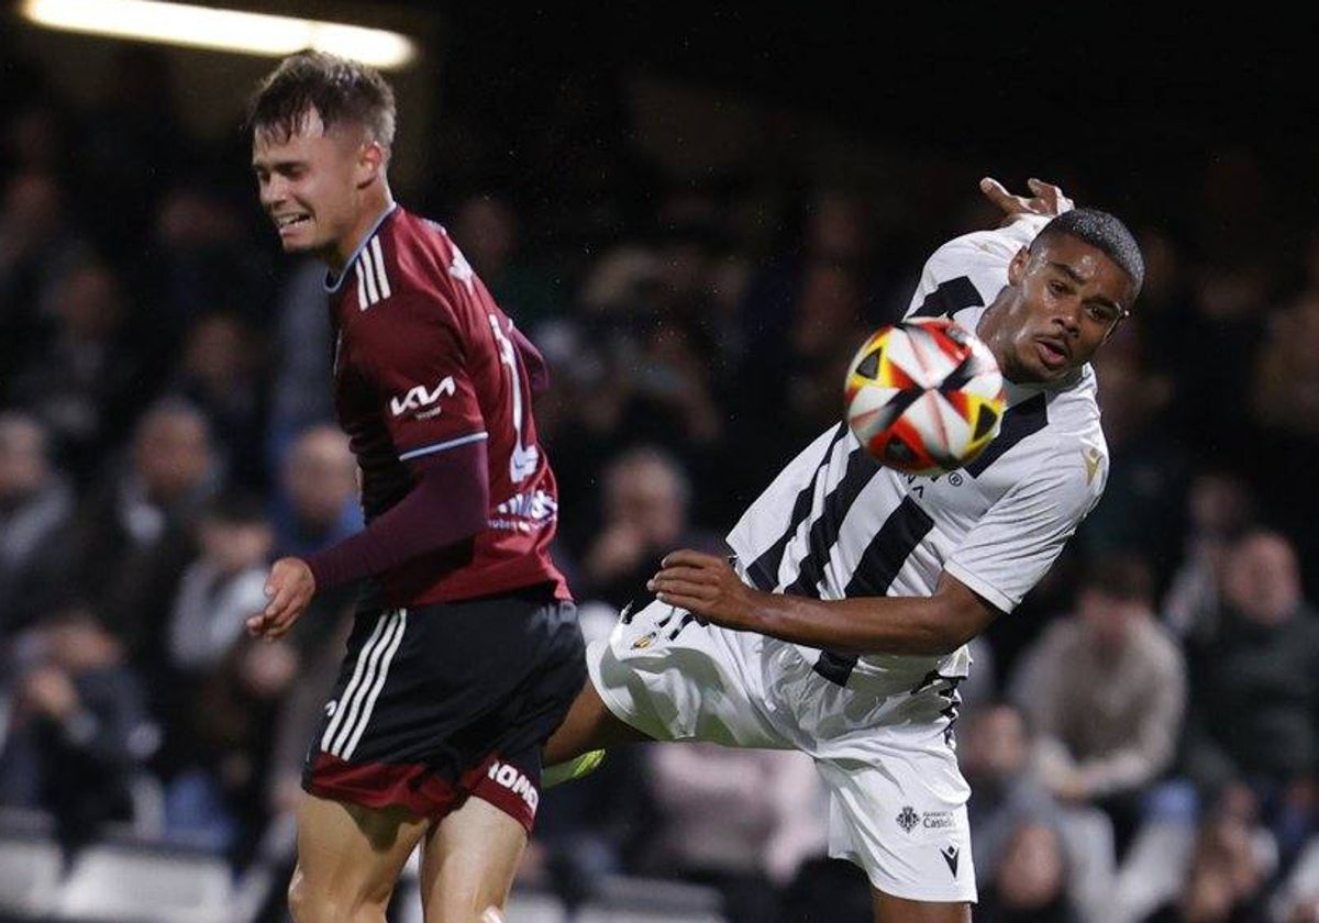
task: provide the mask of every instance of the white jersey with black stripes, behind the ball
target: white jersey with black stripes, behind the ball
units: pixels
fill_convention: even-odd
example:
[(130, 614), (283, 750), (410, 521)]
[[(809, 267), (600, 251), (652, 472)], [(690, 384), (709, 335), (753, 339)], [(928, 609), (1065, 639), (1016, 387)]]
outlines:
[[(1008, 264), (1042, 227), (1020, 219), (940, 247), (907, 316), (952, 316), (975, 330), (1008, 283)], [(845, 423), (780, 472), (728, 534), (747, 579), (766, 591), (836, 600), (929, 596), (940, 574), (1010, 612), (1099, 501), (1108, 447), (1087, 365), (1050, 386), (1006, 385), (1000, 435), (973, 462), (935, 477), (882, 468)], [(806, 650), (806, 649), (803, 649)], [(966, 675), (966, 647), (942, 658), (811, 651), (840, 682), (853, 670), (918, 666)]]

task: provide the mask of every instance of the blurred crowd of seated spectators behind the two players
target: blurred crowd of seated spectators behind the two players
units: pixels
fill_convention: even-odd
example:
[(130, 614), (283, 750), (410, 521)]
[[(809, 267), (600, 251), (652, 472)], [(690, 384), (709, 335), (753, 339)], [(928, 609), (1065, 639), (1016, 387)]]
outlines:
[[(0, 92), (0, 804), (69, 850), (128, 829), (240, 870), (298, 792), (352, 593), (285, 643), (241, 621), (270, 560), (361, 526), (355, 464), (323, 270), (278, 254), (240, 132), (190, 138), (162, 58), (116, 69), (91, 105), (21, 62)], [(665, 551), (721, 547), (838, 419), (923, 254), (996, 216), (983, 166), (901, 149), (902, 207), (769, 156), (679, 179), (628, 146), (625, 107), (574, 100), (534, 129), (598, 140), (553, 199), (475, 162), (397, 191), (550, 363), (555, 556), (598, 636)], [(1319, 224), (1270, 224), (1244, 152), (1187, 186), (1177, 220), (1122, 215), (1149, 274), (1096, 363), (1105, 498), (975, 646), (977, 919), (1319, 919)], [(522, 881), (571, 901), (677, 877), (735, 923), (869, 919), (826, 814), (801, 754), (634, 748), (547, 794)]]

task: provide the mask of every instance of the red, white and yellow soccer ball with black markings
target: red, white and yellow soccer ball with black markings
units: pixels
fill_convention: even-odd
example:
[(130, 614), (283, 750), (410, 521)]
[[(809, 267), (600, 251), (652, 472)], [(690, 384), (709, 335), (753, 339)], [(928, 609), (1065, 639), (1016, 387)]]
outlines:
[(938, 475), (998, 435), (1002, 374), (989, 347), (947, 318), (877, 330), (847, 371), (847, 425), (880, 464)]

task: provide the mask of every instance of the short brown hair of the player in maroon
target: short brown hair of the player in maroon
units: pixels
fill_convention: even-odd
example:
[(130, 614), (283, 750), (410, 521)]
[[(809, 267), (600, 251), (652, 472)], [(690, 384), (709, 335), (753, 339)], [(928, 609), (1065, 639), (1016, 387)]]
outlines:
[(248, 128), (286, 140), (315, 109), (326, 131), (357, 124), (384, 148), (394, 142), (394, 91), (373, 69), (323, 51), (289, 55), (252, 94)]

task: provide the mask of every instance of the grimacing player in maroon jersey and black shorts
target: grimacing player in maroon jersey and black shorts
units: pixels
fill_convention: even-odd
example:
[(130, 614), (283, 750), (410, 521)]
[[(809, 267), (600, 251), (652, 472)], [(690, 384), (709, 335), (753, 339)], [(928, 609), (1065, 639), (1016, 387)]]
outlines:
[(285, 252), (328, 266), (335, 407), (367, 514), (347, 541), (277, 560), (248, 621), (280, 638), (315, 592), (365, 579), (305, 766), (293, 916), (384, 920), (419, 844), (426, 919), (483, 919), (506, 901), (541, 748), (586, 675), (549, 554), (557, 491), (532, 417), (545, 364), (445, 229), (394, 203), (379, 74), (293, 55), (251, 124)]

